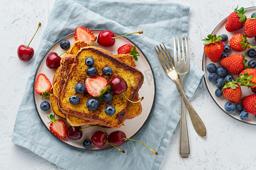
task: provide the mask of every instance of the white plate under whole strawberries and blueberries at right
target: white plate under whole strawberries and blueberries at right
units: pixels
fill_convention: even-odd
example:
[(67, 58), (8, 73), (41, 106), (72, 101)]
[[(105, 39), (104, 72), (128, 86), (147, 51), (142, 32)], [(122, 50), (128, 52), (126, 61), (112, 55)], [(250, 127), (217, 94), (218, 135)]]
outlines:
[[(246, 8), (245, 10), (246, 10), (245, 15), (247, 16), (247, 18), (250, 18), (251, 14), (253, 14), (253, 12), (256, 12), (256, 7)], [(217, 27), (212, 32), (212, 35), (216, 34), (217, 36), (222, 35), (223, 33), (228, 35), (229, 39), (228, 39), (228, 41), (224, 42), (224, 44), (229, 44), (230, 38), (235, 33), (243, 33), (244, 34), (243, 28), (241, 28), (237, 31), (234, 31), (234, 32), (226, 31), (225, 24), (226, 24), (227, 19), (228, 18), (225, 18), (220, 24), (218, 24)], [(247, 40), (248, 40), (248, 42), (250, 42), (250, 45), (256, 46), (256, 42), (254, 41), (254, 38), (251, 38), (251, 39), (247, 38)], [(250, 58), (250, 57), (247, 56), (247, 51), (248, 50), (249, 49), (246, 49), (245, 52), (235, 52), (234, 50), (231, 49), (230, 52), (228, 53), (228, 55), (230, 56), (230, 55), (235, 54), (235, 53), (240, 53), (240, 54), (245, 53), (245, 58), (247, 59), (247, 63), (248, 63), (251, 59), (254, 59), (254, 60), (256, 59), (255, 57)], [(225, 112), (229, 116), (235, 118), (236, 120), (242, 121), (240, 119), (239, 113), (237, 111), (234, 111), (233, 113), (228, 113), (228, 112), (225, 111), (224, 105), (228, 100), (224, 96), (221, 96), (221, 97), (216, 97), (215, 96), (215, 90), (217, 89), (216, 84), (215, 84), (215, 82), (210, 82), (209, 79), (208, 79), (209, 72), (207, 71), (207, 65), (209, 63), (212, 63), (212, 61), (210, 61), (210, 59), (207, 56), (205, 56), (205, 53), (204, 53), (203, 54), (203, 70), (204, 70), (204, 73), (205, 73), (204, 82), (207, 86), (207, 89), (209, 91), (210, 96), (212, 96), (212, 99), (215, 101), (215, 103), (218, 105), (218, 107), (220, 107), (222, 109), (223, 112)], [(246, 65), (247, 65), (247, 63), (246, 63)], [(216, 64), (217, 67), (220, 66), (220, 62), (217, 62), (215, 64)], [(228, 73), (228, 74), (230, 74), (230, 73)], [(237, 75), (233, 75), (233, 77), (234, 77), (234, 79), (238, 78)], [(242, 88), (242, 98), (244, 96), (248, 96), (248, 95), (253, 94), (253, 92), (250, 89), (248, 89), (247, 87), (241, 87), (241, 88)], [(247, 120), (242, 121), (242, 122), (246, 122), (248, 124), (256, 125), (255, 115), (254, 114), (249, 114), (249, 117), (247, 118)]]

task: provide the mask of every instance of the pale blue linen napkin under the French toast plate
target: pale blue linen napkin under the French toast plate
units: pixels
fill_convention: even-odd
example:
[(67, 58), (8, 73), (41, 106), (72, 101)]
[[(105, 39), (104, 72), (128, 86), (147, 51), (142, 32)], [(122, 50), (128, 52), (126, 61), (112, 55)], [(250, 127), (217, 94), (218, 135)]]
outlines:
[[(170, 2), (61, 1), (56, 0), (49, 16), (40, 48), (27, 82), (16, 117), (13, 142), (65, 169), (159, 169), (170, 137), (179, 122), (179, 90), (164, 73), (154, 46), (164, 42), (171, 54), (172, 37), (187, 35), (189, 7)], [(126, 142), (122, 154), (114, 148), (84, 151), (56, 140), (36, 113), (32, 97), (36, 68), (57, 40), (76, 27), (110, 29), (119, 34), (143, 30), (143, 35), (129, 39), (141, 48), (151, 63), (156, 80), (156, 97), (152, 114), (133, 138), (148, 143), (159, 155), (134, 142)], [(185, 79), (185, 92), (191, 98), (204, 74), (191, 62)], [(188, 84), (189, 86), (186, 86)], [(81, 155), (81, 156), (79, 156)]]

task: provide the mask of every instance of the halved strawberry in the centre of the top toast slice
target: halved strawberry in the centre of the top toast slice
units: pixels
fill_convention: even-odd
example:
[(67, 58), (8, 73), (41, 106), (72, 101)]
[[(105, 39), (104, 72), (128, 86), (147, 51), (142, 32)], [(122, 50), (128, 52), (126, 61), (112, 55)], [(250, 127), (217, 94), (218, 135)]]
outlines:
[(99, 97), (104, 94), (110, 86), (102, 76), (90, 76), (85, 80), (85, 88), (93, 97)]

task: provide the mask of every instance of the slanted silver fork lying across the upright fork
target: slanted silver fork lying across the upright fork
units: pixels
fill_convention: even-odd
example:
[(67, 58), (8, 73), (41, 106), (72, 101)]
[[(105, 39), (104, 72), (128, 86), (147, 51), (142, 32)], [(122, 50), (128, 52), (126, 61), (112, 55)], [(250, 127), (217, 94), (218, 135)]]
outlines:
[[(174, 62), (171, 61), (170, 53), (168, 52), (168, 50), (167, 50), (167, 52), (164, 52), (163, 49), (161, 51), (158, 46), (157, 46), (157, 48), (158, 48), (159, 52), (156, 50), (156, 48), (155, 48), (155, 52), (158, 55), (159, 61), (164, 69), (164, 72), (169, 76), (169, 78), (171, 78), (174, 81), (177, 88), (180, 90), (180, 94), (183, 97), (185, 105), (188, 108), (189, 116), (191, 117), (192, 124), (193, 124), (197, 134), (199, 134), (201, 137), (205, 138), (207, 131), (205, 129), (204, 123), (201, 120), (201, 118), (198, 116), (198, 114), (196, 113), (195, 109), (189, 103), (189, 100), (188, 100), (187, 96), (185, 95), (185, 92), (180, 84), (179, 77), (176, 73)], [(176, 51), (176, 49), (174, 49), (174, 51)], [(166, 55), (166, 53), (167, 53), (167, 55)], [(174, 56), (174, 57), (177, 57), (177, 56)]]

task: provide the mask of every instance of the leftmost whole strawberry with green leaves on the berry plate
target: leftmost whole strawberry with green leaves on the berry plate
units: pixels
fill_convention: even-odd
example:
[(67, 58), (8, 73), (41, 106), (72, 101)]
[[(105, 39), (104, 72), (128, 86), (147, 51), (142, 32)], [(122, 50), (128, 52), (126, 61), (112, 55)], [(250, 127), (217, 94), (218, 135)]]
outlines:
[(222, 37), (216, 35), (208, 35), (207, 39), (204, 39), (204, 53), (212, 62), (220, 60), (222, 52), (224, 51), (224, 44), (221, 41)]

